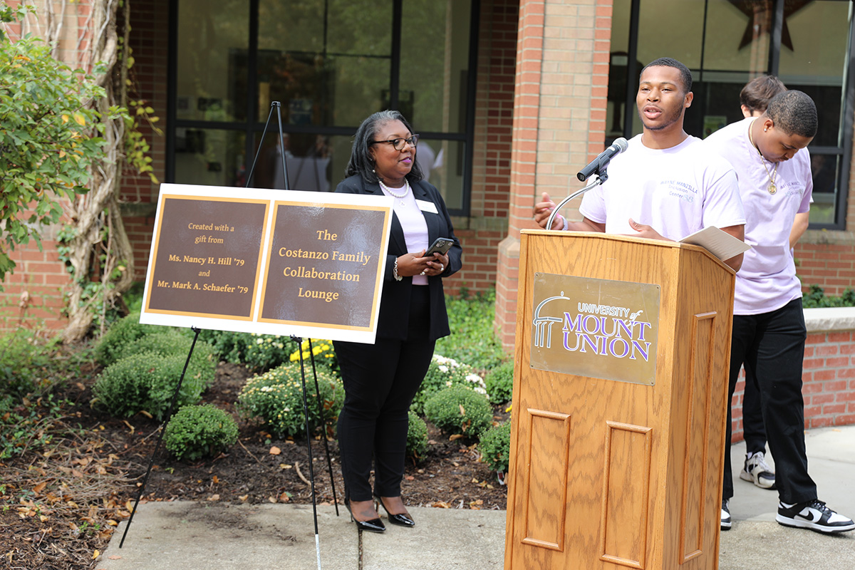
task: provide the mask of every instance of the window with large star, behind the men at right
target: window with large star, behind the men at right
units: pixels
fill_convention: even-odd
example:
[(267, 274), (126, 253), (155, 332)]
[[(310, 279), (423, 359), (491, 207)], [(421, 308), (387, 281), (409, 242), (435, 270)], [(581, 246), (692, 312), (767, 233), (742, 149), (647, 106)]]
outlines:
[[(780, 3), (784, 21), (780, 44), (774, 45), (771, 30)], [(635, 46), (629, 44), (634, 6), (640, 11)], [(634, 109), (638, 87), (637, 75), (622, 80), (633, 49), (639, 71), (660, 56), (675, 57), (692, 69), (694, 99), (684, 128), (701, 138), (743, 118), (739, 96), (746, 82), (776, 74), (788, 88), (805, 91), (817, 103), (819, 131), (810, 146), (811, 225), (842, 228), (845, 212), (838, 205), (845, 203), (840, 192), (846, 193), (848, 185), (844, 151), (851, 128), (846, 121), (852, 120), (852, 109), (846, 109), (851, 33), (852, 3), (846, 0), (616, 0), (607, 134), (614, 138), (641, 132), (637, 113), (631, 114), (629, 127), (622, 125), (622, 108), (632, 102)]]

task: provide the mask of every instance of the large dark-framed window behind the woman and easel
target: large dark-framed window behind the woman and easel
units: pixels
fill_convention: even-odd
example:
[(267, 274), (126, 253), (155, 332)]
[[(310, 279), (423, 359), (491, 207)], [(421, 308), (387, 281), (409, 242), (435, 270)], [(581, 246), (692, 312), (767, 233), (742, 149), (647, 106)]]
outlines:
[(289, 188), (333, 191), (357, 126), (395, 108), (422, 134), (429, 181), (468, 209), (470, 0), (177, 4), (175, 181), (245, 185), (257, 161), (252, 186), (285, 188), (285, 156)]

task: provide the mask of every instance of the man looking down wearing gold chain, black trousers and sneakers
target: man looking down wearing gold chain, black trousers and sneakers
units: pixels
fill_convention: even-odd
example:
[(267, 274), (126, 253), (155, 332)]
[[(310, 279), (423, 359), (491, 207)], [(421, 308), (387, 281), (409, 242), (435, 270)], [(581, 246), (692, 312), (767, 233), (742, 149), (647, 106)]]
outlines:
[[(712, 133), (704, 144), (733, 165), (745, 206), (746, 251), (736, 273), (734, 332), (728, 403), (740, 367), (758, 380), (761, 407), (775, 457), (778, 514), (783, 526), (846, 532), (855, 522), (819, 501), (807, 471), (805, 402), (801, 394), (805, 317), (801, 284), (790, 255), (790, 229), (810, 209), (813, 182), (807, 152), (817, 133), (817, 108), (802, 91), (785, 91), (766, 112)], [(728, 406), (727, 449), (731, 416)], [(722, 530), (730, 527), (734, 495), (730, 454), (725, 453)]]

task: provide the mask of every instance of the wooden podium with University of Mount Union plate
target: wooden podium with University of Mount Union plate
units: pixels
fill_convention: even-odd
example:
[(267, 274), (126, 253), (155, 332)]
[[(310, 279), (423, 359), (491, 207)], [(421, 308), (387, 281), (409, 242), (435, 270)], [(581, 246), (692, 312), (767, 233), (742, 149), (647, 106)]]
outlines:
[(522, 232), (505, 570), (718, 567), (735, 273)]

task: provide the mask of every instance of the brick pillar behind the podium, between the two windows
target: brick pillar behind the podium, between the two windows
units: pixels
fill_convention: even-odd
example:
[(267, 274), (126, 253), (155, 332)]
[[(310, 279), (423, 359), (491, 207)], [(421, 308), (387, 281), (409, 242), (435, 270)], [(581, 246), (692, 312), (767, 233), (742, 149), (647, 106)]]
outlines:
[[(499, 244), (496, 329), (514, 345), (520, 231), (542, 192), (557, 202), (604, 149), (612, 0), (521, 0), (508, 234)], [(578, 201), (563, 214), (578, 218)]]

